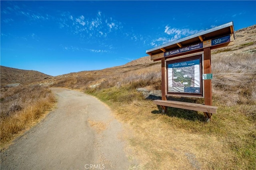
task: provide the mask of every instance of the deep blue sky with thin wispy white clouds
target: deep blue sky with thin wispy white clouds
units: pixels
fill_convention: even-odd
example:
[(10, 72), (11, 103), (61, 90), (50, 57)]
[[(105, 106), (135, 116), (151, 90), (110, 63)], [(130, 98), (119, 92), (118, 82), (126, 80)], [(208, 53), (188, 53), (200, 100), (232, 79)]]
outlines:
[(234, 21), (256, 24), (256, 1), (1, 1), (0, 64), (57, 76), (100, 70)]

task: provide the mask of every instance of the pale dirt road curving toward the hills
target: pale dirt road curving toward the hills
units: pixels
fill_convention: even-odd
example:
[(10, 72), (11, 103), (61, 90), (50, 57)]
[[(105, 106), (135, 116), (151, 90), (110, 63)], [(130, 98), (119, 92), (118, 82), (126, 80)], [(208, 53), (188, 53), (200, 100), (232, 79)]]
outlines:
[(1, 169), (129, 169), (122, 125), (102, 102), (52, 88), (57, 108), (1, 153)]

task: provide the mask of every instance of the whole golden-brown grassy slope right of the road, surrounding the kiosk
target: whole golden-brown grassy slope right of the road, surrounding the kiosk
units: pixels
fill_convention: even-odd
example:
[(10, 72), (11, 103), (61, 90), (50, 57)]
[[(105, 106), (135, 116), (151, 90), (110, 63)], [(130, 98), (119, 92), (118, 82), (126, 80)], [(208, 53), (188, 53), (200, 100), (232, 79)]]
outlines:
[(65, 75), (66, 82), (58, 84), (64, 79), (60, 77), (55, 85), (78, 88), (106, 102), (116, 118), (132, 129), (127, 139), (141, 169), (254, 169), (256, 54), (252, 49), (256, 45), (250, 42), (256, 33), (254, 28), (248, 30), (248, 45), (243, 45), (248, 43), (245, 32), (238, 31), (235, 48), (212, 55), (213, 105), (218, 110), (210, 123), (196, 111), (168, 108), (162, 115), (136, 91), (161, 88), (161, 66), (149, 57), (143, 63)]

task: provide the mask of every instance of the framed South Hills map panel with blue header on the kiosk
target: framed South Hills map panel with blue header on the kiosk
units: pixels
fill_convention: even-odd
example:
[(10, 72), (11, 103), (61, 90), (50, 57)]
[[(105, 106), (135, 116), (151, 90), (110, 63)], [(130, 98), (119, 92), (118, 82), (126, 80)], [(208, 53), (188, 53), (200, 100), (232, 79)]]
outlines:
[(202, 96), (202, 55), (167, 64), (167, 93)]

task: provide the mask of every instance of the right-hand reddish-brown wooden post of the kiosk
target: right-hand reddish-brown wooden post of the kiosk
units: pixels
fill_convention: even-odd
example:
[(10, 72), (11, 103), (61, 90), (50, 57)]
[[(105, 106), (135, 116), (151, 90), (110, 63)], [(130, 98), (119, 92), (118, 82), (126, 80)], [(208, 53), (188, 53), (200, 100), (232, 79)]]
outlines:
[[(211, 49), (204, 48), (204, 74), (212, 73), (211, 66)], [(204, 105), (212, 106), (212, 80), (204, 81)], [(204, 115), (211, 119), (212, 113), (204, 112)]]

